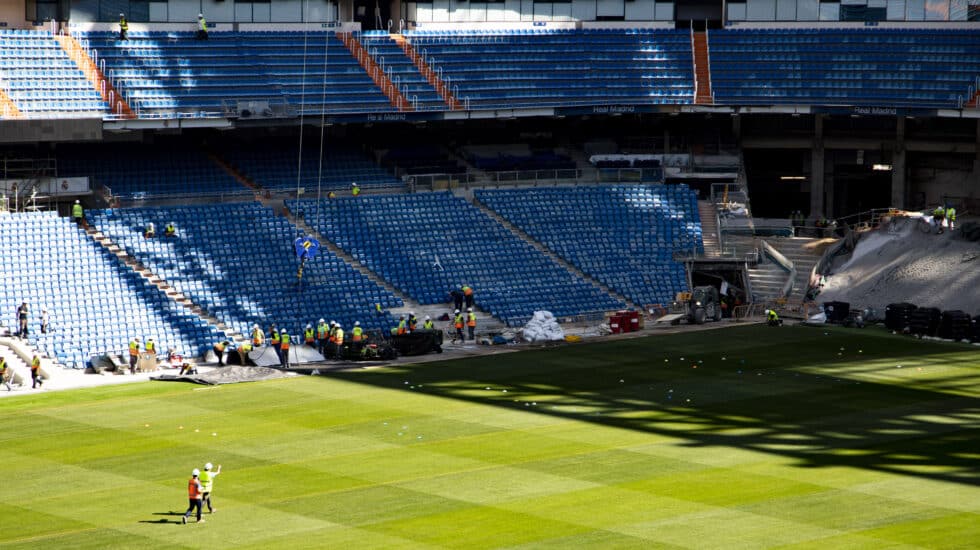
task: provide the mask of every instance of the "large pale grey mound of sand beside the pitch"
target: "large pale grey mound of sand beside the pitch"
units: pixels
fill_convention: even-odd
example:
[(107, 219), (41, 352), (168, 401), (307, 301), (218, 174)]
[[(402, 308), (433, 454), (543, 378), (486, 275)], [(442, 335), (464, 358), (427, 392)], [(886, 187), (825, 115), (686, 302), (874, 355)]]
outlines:
[[(904, 222), (904, 220), (902, 220)], [(919, 307), (980, 314), (980, 245), (955, 233), (922, 233), (895, 223), (861, 235), (854, 251), (835, 262), (818, 302), (851, 307), (910, 302)]]

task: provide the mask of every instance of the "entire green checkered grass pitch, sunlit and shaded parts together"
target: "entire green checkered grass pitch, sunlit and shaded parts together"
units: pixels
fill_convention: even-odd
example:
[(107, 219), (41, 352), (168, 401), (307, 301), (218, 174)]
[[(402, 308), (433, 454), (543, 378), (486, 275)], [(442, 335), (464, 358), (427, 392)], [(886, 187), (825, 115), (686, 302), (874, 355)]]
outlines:
[[(871, 329), (110, 386), (0, 415), (4, 548), (980, 546), (980, 351)], [(208, 461), (218, 511), (180, 525)]]

